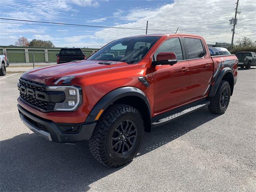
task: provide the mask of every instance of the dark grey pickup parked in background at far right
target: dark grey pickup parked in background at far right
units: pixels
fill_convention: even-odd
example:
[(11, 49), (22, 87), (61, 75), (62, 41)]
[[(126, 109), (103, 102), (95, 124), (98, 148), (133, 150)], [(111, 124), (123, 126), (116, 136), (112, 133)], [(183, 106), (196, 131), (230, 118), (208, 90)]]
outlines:
[(256, 66), (256, 53), (254, 52), (237, 52), (238, 66), (241, 68), (250, 69), (251, 66)]

